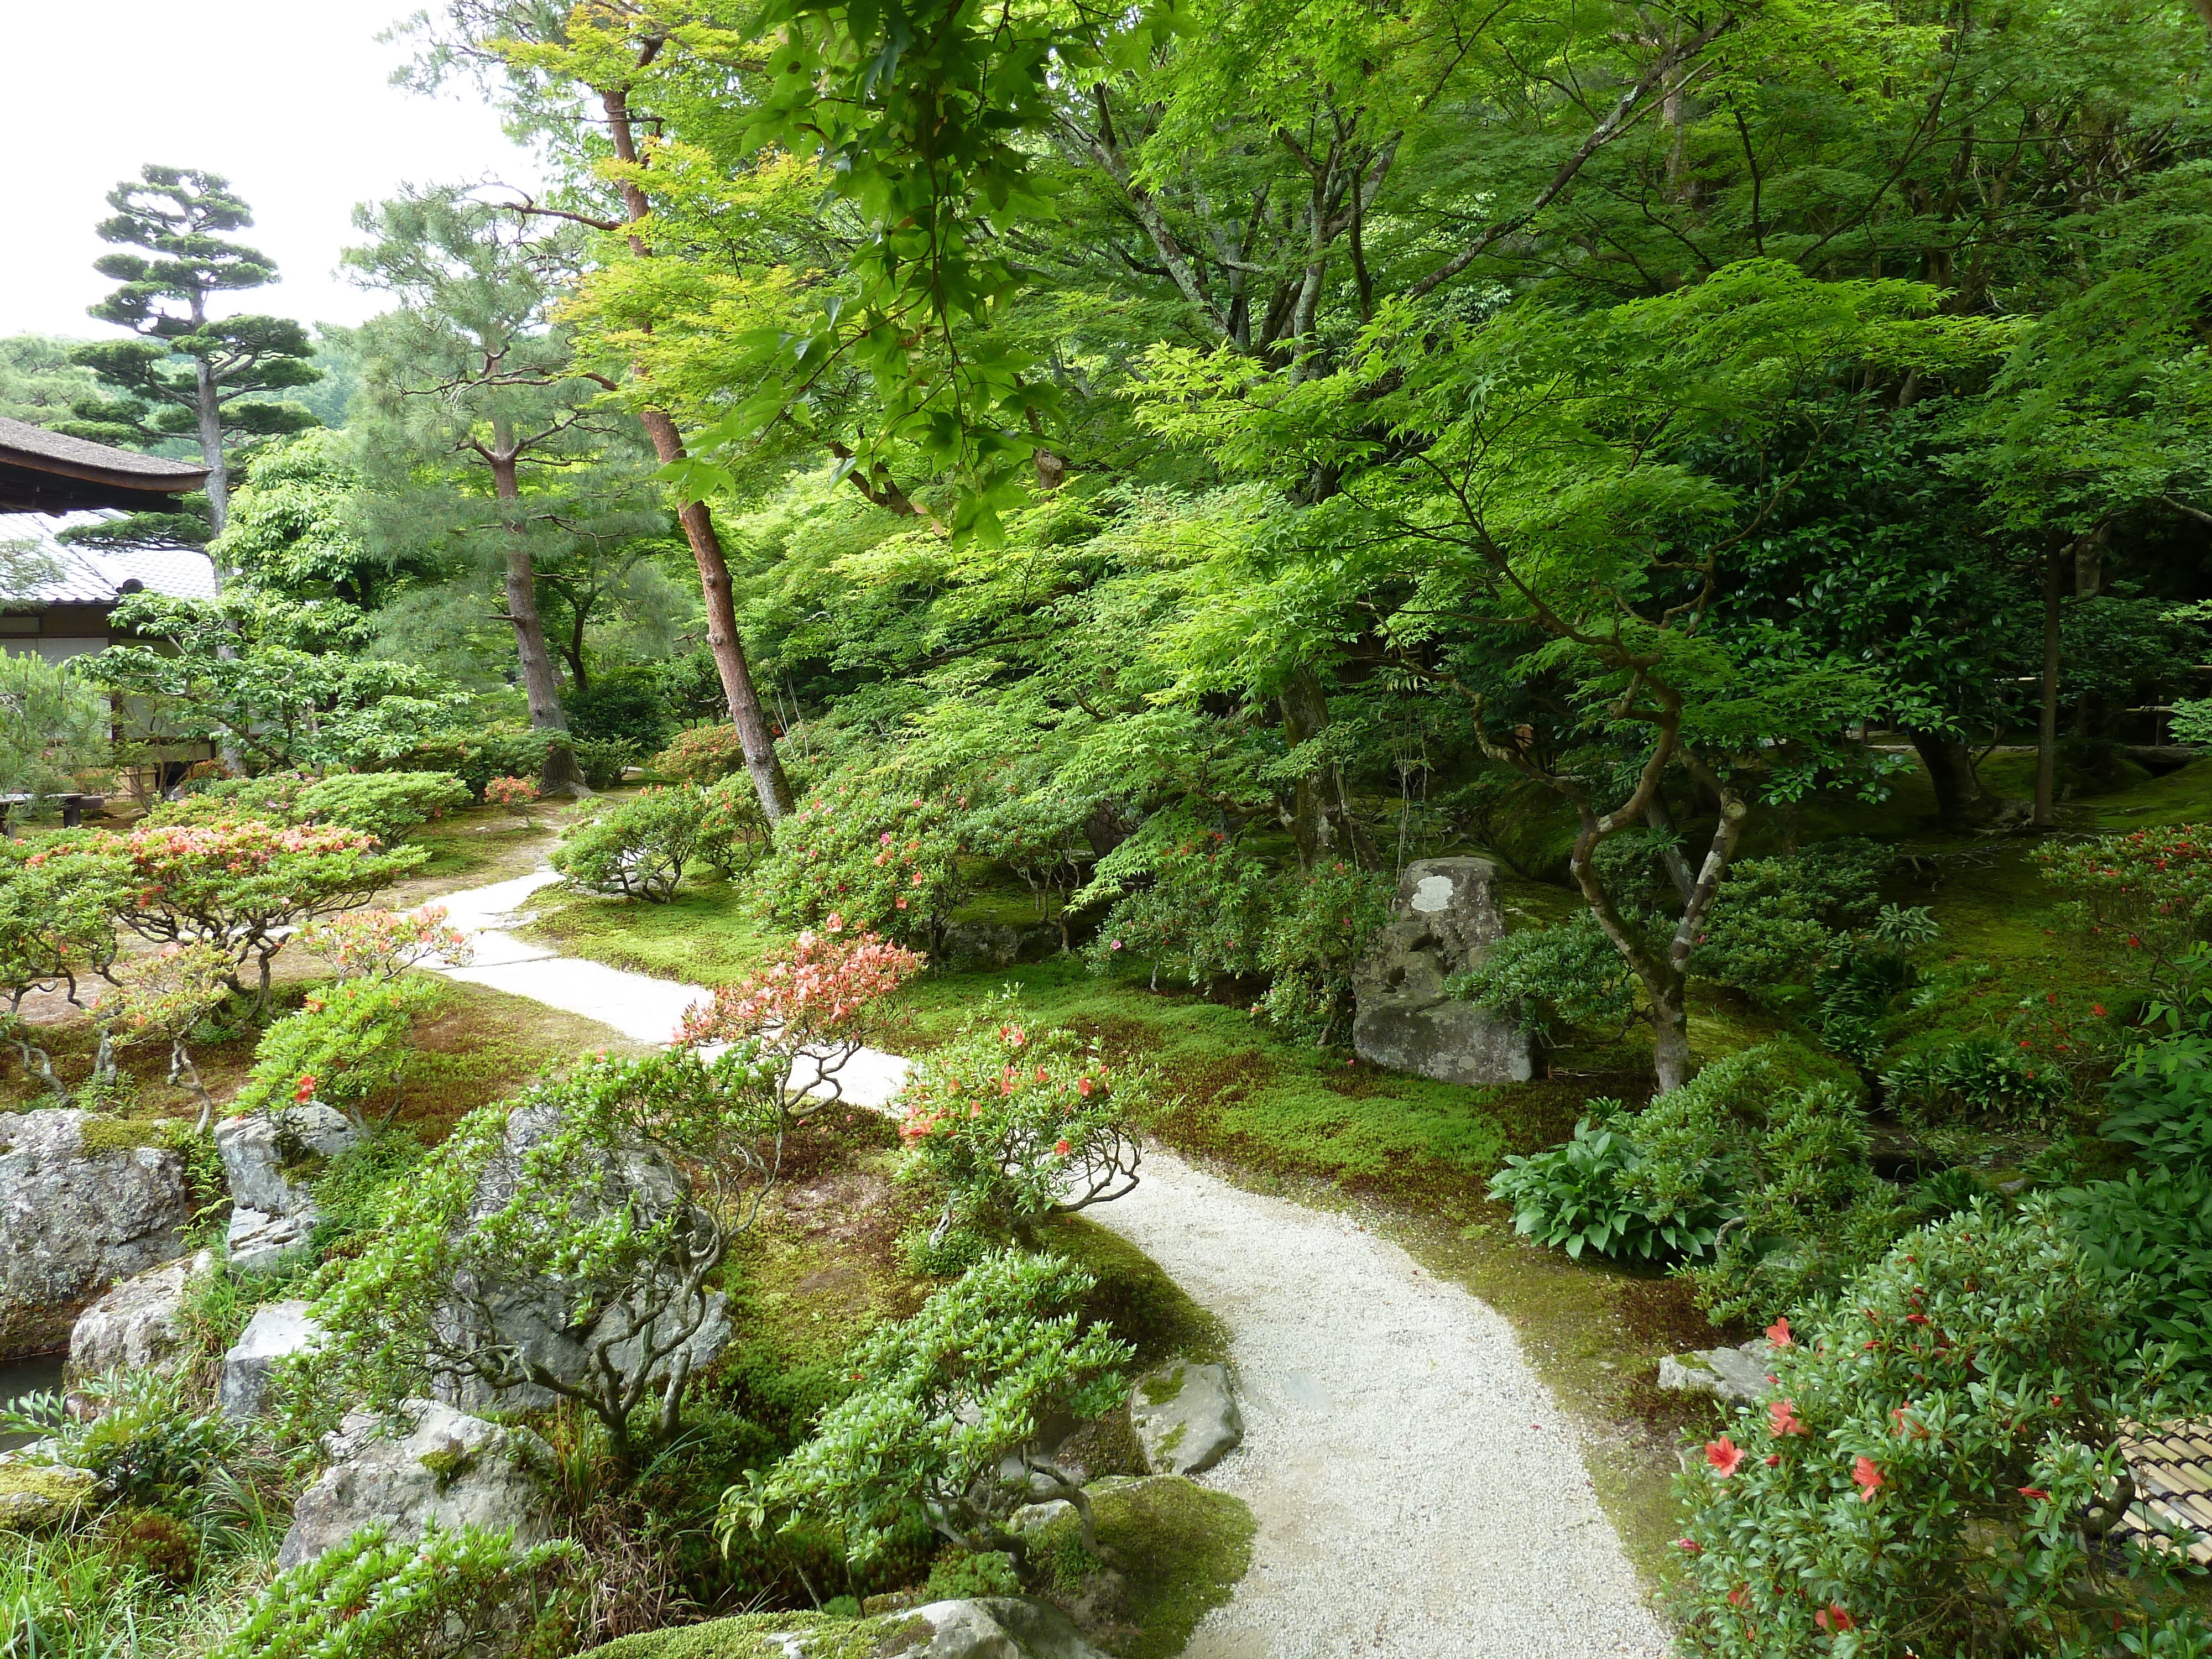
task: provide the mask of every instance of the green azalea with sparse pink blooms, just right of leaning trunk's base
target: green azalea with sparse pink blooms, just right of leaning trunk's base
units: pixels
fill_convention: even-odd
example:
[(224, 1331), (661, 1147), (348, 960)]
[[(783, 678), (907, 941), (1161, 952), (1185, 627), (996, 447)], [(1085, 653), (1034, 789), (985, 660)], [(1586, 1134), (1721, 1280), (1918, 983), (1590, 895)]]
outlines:
[(874, 785), (816, 790), (776, 825), (752, 891), (776, 922), (827, 929), (836, 918), (938, 949), (967, 894), (956, 810)]

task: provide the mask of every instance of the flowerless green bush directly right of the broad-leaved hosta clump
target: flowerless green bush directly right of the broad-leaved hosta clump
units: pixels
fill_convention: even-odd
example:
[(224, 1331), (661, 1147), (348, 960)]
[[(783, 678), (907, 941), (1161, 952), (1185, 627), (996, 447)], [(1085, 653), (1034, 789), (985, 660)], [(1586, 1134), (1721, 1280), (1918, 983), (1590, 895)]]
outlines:
[(1717, 1060), (1659, 1095), (1632, 1133), (1637, 1199), (1728, 1210), (1712, 1259), (1686, 1270), (1714, 1321), (1834, 1292), (1907, 1225), (1898, 1190), (1874, 1172), (1856, 1079), (1792, 1042)]

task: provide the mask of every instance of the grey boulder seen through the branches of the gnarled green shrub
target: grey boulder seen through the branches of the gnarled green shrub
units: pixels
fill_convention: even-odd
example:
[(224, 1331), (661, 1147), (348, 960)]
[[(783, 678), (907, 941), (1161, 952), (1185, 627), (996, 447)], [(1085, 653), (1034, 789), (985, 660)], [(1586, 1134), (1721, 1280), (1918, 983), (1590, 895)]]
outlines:
[[(513, 1192), (513, 1168), (531, 1146), (553, 1133), (553, 1126), (555, 1110), (551, 1106), (533, 1106), (513, 1113), (507, 1124), (507, 1148), (478, 1188), (476, 1203), (471, 1206), (473, 1217), (491, 1214), (507, 1203)], [(666, 1214), (677, 1201), (677, 1177), (664, 1159), (646, 1150), (628, 1150), (608, 1161), (606, 1181), (599, 1188), (597, 1203), (630, 1203), (644, 1225)], [(573, 1383), (591, 1371), (593, 1343), (599, 1340), (599, 1323), (593, 1321), (577, 1325), (571, 1318), (571, 1305), (557, 1287), (542, 1283), (493, 1283), (462, 1285), (462, 1292), (491, 1310), (493, 1329), (500, 1343), (520, 1347), (553, 1376), (564, 1383)], [(460, 1303), (453, 1303), (449, 1318), (458, 1321), (462, 1316)], [(611, 1334), (619, 1332), (626, 1323), (619, 1312), (606, 1312), (602, 1318), (608, 1321), (606, 1329)], [(699, 1321), (699, 1329), (695, 1329), (684, 1343), (684, 1352), (690, 1356), (690, 1369), (695, 1374), (703, 1369), (728, 1343), (728, 1298), (719, 1290), (706, 1292), (706, 1314)], [(639, 1336), (630, 1336), (615, 1343), (608, 1354), (615, 1369), (630, 1376), (641, 1363), (644, 1349), (644, 1340)], [(666, 1360), (659, 1369), (664, 1367)], [(440, 1378), (434, 1394), (453, 1405), (498, 1405), (509, 1411), (526, 1411), (553, 1402), (551, 1389), (515, 1387), (493, 1391), (476, 1378)]]

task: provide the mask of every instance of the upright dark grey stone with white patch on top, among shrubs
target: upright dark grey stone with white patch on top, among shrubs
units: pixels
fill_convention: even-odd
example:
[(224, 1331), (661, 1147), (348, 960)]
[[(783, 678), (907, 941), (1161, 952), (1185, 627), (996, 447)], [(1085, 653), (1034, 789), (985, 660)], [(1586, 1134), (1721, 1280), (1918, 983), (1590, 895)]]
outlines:
[(1352, 1046), (1360, 1060), (1444, 1084), (1524, 1084), (1535, 1046), (1520, 1020), (1444, 993), (1506, 933), (1498, 865), (1416, 858), (1398, 878), (1391, 922), (1352, 973)]

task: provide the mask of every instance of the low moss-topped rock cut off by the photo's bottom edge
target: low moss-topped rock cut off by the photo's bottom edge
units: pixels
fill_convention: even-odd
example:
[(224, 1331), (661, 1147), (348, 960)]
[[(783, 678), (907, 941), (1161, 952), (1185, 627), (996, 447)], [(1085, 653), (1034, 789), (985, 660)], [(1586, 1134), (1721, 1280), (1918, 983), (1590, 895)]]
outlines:
[(1026, 1595), (929, 1601), (905, 1613), (838, 1619), (750, 1613), (650, 1630), (584, 1659), (1106, 1659), (1068, 1617)]

